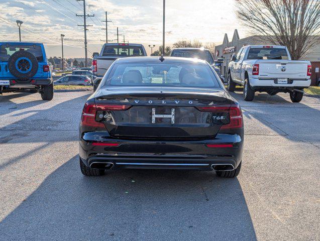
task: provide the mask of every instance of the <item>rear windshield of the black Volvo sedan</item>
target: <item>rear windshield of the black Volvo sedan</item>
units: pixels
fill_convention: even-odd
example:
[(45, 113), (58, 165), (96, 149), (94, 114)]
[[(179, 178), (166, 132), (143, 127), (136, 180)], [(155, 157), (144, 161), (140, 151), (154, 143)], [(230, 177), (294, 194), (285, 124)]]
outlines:
[(188, 63), (115, 64), (105, 85), (220, 87), (208, 65)]

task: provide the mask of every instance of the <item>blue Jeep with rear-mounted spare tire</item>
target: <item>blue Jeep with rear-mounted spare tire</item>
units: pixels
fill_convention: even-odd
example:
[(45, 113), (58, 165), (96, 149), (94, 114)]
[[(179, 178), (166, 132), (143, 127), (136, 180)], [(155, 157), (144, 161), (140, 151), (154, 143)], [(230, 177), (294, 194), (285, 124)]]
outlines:
[(0, 94), (29, 89), (53, 98), (53, 81), (43, 44), (0, 42)]

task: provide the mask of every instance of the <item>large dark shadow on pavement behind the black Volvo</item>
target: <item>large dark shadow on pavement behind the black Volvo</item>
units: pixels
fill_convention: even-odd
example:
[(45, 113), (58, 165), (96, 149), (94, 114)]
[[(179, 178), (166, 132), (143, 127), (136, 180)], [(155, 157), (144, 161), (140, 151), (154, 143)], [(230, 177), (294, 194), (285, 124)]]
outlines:
[(237, 178), (177, 170), (82, 176), (75, 156), (0, 223), (0, 240), (256, 240)]

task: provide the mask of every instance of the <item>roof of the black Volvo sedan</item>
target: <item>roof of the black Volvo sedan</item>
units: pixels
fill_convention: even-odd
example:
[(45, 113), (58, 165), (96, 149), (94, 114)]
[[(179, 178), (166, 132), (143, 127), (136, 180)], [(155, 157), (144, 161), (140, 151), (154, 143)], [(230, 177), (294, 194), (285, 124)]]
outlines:
[[(145, 63), (161, 63), (159, 56), (119, 58), (115, 62), (117, 62), (117, 63), (143, 63), (143, 62), (145, 62)], [(164, 56), (163, 63), (206, 64), (206, 62), (201, 59), (168, 57), (168, 56)]]

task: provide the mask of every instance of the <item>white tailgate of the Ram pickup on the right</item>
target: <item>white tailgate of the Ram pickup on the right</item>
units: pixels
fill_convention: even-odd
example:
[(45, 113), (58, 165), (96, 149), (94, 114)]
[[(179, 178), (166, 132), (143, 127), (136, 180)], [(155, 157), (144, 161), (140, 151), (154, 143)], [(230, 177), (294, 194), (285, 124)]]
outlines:
[(270, 78), (306, 78), (306, 61), (263, 60), (258, 61), (259, 76)]

